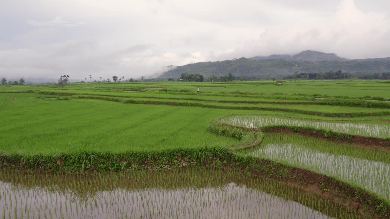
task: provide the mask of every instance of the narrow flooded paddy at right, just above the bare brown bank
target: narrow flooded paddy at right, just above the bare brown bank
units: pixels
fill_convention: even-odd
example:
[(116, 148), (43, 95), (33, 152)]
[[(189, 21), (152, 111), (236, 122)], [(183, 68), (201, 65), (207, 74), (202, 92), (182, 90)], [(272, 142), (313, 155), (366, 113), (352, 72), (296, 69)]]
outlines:
[(356, 134), (367, 137), (389, 138), (390, 136), (390, 124), (388, 122), (380, 122), (381, 124), (365, 124), (352, 121), (321, 122), (305, 118), (281, 118), (267, 115), (238, 115), (222, 118), (222, 121), (230, 125), (244, 127), (249, 127), (251, 123), (253, 123), (254, 127), (287, 125), (325, 129), (333, 132)]

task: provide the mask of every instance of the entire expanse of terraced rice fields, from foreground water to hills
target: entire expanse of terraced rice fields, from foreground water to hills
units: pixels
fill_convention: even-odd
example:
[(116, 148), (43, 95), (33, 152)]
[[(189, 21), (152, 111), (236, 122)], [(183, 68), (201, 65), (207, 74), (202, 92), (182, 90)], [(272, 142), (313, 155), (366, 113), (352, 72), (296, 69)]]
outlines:
[(0, 86), (0, 217), (389, 218), (390, 88), (347, 83)]

